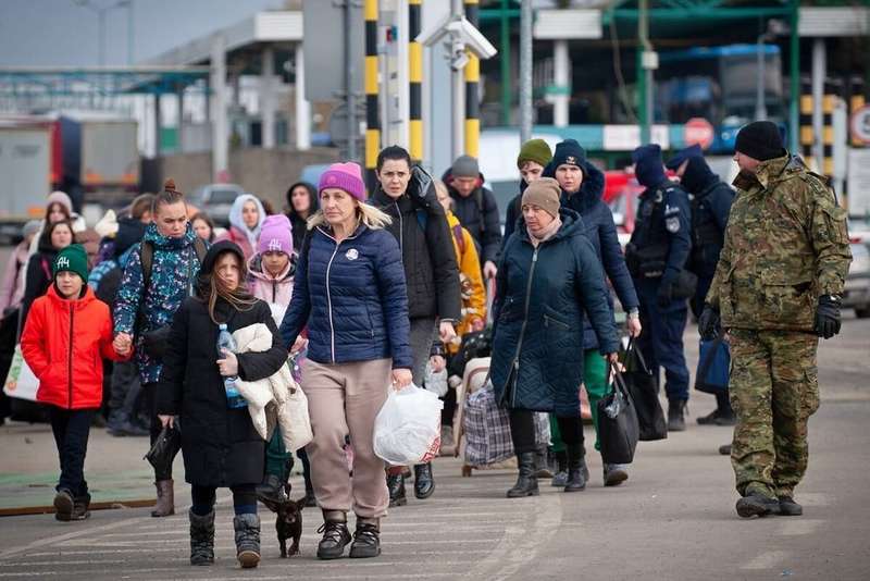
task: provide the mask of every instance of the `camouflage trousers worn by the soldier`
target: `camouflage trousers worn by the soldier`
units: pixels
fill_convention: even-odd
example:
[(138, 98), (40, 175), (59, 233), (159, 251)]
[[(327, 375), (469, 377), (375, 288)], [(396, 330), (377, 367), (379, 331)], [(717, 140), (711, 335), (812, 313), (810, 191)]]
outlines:
[(819, 408), (819, 338), (737, 329), (730, 335), (737, 492), (792, 496), (807, 470), (807, 420)]

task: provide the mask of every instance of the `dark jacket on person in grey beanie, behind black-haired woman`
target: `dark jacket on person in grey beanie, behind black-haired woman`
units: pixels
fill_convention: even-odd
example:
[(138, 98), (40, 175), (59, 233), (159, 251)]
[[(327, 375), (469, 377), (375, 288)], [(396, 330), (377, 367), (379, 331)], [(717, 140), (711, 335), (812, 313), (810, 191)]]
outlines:
[(456, 190), (450, 170), (444, 173), (442, 181), (447, 185), (447, 190), (453, 199), (453, 213), (459, 223), (471, 233), (481, 248), (481, 267), (487, 261), (498, 262), (501, 249), (501, 219), (495, 196), (483, 187), (483, 174), (480, 174), (477, 187), (469, 196), (461, 196)]

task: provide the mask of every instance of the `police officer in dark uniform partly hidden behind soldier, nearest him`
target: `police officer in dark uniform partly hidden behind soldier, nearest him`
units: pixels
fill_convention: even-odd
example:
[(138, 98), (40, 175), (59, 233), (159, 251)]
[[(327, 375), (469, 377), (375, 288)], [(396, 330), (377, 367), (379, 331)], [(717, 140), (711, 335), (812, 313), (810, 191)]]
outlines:
[[(710, 288), (719, 262), (719, 252), (724, 245), (725, 225), (734, 190), (716, 175), (707, 162), (700, 146), (694, 145), (678, 152), (667, 166), (676, 172), (680, 185), (688, 191), (692, 209), (692, 254), (686, 268), (698, 277), (698, 288), (689, 302), (696, 318), (704, 310), (704, 297)], [(728, 391), (717, 392), (716, 409), (708, 416), (698, 418), (698, 423), (734, 425), (734, 411), (731, 409)]]

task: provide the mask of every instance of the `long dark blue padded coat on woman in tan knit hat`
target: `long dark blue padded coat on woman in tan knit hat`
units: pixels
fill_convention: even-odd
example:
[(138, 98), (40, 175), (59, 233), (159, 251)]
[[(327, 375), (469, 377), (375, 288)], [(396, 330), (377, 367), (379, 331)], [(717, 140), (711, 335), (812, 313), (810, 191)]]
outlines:
[(598, 257), (573, 210), (535, 250), (525, 228), (501, 255), (493, 306), (496, 401), (510, 408), (579, 417), (583, 381), (583, 313), (598, 335), (600, 353), (619, 349)]

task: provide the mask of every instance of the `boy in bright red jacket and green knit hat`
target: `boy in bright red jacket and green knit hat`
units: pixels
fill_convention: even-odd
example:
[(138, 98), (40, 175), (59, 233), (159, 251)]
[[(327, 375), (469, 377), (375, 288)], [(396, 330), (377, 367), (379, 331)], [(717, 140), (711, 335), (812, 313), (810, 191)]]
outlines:
[(109, 307), (87, 283), (82, 245), (67, 246), (53, 264), (54, 284), (30, 307), (21, 349), (39, 379), (36, 399), (49, 405), (61, 478), (54, 496), (58, 520), (90, 516), (85, 453), (94, 415), (102, 401), (102, 359), (128, 359), (133, 350), (112, 343)]

